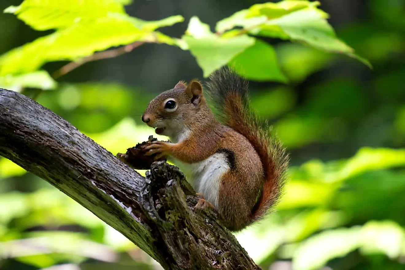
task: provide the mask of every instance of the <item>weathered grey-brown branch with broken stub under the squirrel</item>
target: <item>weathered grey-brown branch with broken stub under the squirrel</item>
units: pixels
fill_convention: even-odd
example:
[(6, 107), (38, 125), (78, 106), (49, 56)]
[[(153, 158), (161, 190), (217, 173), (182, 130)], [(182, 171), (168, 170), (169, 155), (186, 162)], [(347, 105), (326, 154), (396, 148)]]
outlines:
[(124, 234), (165, 269), (260, 269), (177, 167), (155, 162), (144, 178), (64, 119), (0, 89), (0, 155)]

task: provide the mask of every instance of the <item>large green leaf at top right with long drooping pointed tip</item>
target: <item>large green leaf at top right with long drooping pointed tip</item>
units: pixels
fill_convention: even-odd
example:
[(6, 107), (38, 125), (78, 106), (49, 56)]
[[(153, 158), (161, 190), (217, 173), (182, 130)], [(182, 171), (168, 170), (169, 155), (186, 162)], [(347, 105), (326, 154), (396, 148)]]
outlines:
[(223, 33), (235, 26), (250, 34), (290, 39), (320, 50), (344, 53), (367, 66), (371, 64), (356, 55), (354, 50), (337, 38), (328, 24), (328, 15), (317, 8), (319, 2), (281, 1), (251, 6), (217, 23), (217, 32)]

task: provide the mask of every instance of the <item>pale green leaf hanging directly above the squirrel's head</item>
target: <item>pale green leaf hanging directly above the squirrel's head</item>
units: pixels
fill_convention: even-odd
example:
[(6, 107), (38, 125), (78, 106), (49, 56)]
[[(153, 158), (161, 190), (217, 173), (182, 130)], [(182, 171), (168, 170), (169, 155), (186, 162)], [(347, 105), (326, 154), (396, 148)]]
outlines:
[(217, 36), (197, 17), (190, 19), (186, 34), (183, 40), (203, 69), (204, 77), (208, 77), (213, 71), (228, 64), (232, 58), (255, 42), (254, 38), (245, 34), (230, 38)]

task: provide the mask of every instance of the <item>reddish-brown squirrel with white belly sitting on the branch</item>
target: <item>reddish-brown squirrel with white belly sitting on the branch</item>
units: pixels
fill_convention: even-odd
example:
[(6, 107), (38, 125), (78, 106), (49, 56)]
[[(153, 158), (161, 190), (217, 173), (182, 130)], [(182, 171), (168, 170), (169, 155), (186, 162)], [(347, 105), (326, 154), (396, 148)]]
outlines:
[(247, 81), (223, 67), (209, 77), (207, 94), (217, 117), (198, 80), (151, 100), (142, 121), (170, 141), (152, 142), (146, 155), (167, 157), (191, 179), (200, 196), (195, 208), (215, 208), (239, 231), (277, 202), (289, 157), (250, 108)]

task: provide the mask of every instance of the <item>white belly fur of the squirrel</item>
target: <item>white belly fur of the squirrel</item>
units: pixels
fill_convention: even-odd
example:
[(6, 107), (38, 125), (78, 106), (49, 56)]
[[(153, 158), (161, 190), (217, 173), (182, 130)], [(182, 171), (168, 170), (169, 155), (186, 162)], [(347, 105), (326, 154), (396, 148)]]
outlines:
[(204, 199), (211, 202), (218, 209), (220, 179), (229, 170), (229, 164), (223, 153), (215, 153), (203, 161), (188, 164), (173, 160), (176, 166), (185, 174), (198, 193), (204, 195)]

